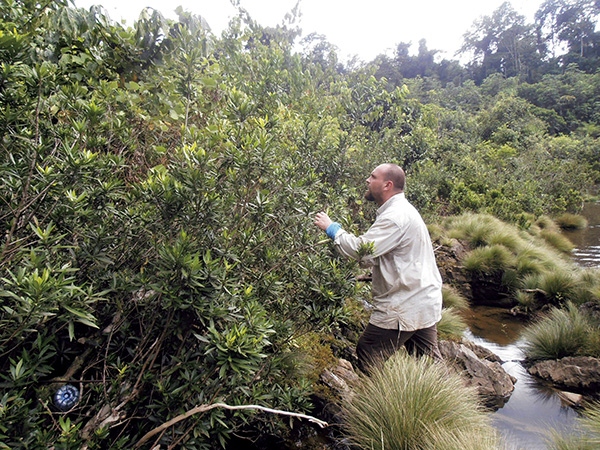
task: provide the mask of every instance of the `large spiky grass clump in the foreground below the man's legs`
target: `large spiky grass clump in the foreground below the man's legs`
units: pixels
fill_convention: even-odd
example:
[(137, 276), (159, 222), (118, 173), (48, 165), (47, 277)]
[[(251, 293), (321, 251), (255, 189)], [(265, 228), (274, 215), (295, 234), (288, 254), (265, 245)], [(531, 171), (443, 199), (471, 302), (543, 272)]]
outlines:
[(497, 449), (477, 394), (429, 358), (397, 353), (355, 386), (344, 430), (359, 449)]

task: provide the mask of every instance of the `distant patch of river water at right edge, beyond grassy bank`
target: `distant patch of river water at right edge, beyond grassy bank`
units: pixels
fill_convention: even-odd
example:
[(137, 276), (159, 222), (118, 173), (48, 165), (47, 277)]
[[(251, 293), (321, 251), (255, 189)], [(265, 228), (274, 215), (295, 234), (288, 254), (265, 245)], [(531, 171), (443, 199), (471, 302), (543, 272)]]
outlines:
[(600, 267), (600, 202), (585, 203), (581, 215), (588, 220), (583, 230), (565, 231), (575, 245), (573, 259), (583, 267)]

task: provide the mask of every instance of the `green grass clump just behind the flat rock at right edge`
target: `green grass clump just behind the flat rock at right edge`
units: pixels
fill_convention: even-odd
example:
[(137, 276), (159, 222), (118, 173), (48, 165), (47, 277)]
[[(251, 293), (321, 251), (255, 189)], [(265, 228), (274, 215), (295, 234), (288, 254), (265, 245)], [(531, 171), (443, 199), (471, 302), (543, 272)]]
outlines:
[(564, 309), (553, 308), (524, 331), (523, 352), (532, 361), (586, 355), (597, 333), (587, 317), (568, 303)]

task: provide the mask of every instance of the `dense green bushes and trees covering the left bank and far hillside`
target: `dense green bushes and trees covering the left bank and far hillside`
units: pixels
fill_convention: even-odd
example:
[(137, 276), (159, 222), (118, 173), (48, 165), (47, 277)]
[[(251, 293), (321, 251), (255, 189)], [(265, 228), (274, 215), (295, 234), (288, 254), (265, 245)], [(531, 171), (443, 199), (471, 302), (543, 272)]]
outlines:
[[(598, 6), (551, 3), (540, 30), (561, 18), (563, 56), (509, 70), (489, 44), (444, 78), (444, 62), (350, 69), (318, 39), (295, 53), (293, 23), (242, 9), (217, 38), (182, 10), (124, 28), (66, 1), (2, 2), (0, 446), (132, 448), (217, 401), (310, 411), (323, 336), (349, 332), (362, 295), (312, 217), (364, 229), (380, 162), (406, 168), (428, 219), (576, 212), (600, 178), (600, 44), (559, 13)], [(66, 381), (68, 414), (52, 400)], [(212, 409), (152, 442), (212, 448), (286, 422)]]

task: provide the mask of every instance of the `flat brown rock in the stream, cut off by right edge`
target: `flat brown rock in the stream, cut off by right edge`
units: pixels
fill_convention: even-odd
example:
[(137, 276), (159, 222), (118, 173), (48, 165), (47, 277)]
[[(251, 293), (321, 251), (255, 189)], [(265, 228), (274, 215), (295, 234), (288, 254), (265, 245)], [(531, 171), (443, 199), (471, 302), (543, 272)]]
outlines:
[(600, 389), (600, 359), (591, 356), (541, 361), (527, 370), (533, 376), (576, 392), (593, 393)]

